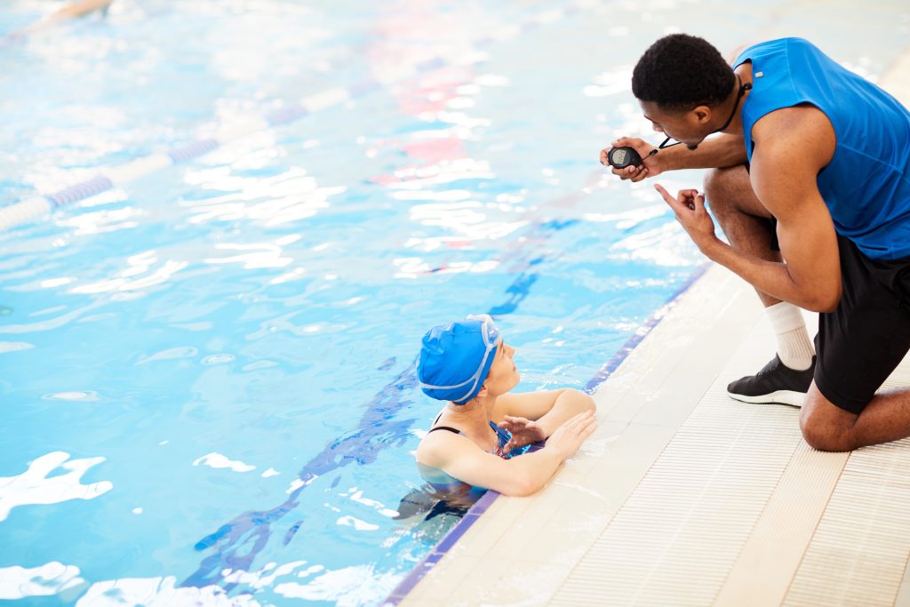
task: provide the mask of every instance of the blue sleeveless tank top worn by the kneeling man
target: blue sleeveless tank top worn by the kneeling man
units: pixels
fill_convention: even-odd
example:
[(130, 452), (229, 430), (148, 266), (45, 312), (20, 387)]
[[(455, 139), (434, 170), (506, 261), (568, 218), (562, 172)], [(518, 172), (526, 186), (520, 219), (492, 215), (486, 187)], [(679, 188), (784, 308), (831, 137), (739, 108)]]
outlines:
[(839, 234), (872, 259), (910, 257), (910, 113), (878, 86), (839, 66), (802, 38), (750, 46), (733, 67), (752, 61), (753, 89), (743, 103), (743, 136), (766, 114), (808, 103), (834, 126), (837, 147), (818, 189)]

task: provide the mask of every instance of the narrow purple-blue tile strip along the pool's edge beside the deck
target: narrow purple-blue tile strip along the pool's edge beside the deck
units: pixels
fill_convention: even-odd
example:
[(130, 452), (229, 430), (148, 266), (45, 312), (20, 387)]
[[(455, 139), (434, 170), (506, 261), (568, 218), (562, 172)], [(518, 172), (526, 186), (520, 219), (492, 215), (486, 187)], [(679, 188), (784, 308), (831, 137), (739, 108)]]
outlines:
[[(698, 268), (695, 268), (693, 274), (686, 279), (682, 286), (677, 288), (670, 298), (667, 298), (661, 308), (654, 312), (649, 319), (644, 321), (642, 326), (635, 331), (632, 338), (626, 341), (622, 348), (617, 350), (612, 359), (594, 374), (588, 383), (585, 384), (584, 391), (588, 394), (592, 394), (616, 371), (616, 369), (619, 369), (622, 362), (632, 354), (632, 350), (642, 343), (642, 340), (660, 324), (661, 320), (666, 317), (667, 313), (675, 306), (679, 298), (692, 288), (711, 266), (712, 264), (710, 262), (705, 262)], [(501, 493), (492, 490), (484, 493), (480, 497), (480, 500), (476, 501), (461, 520), (446, 533), (438, 544), (436, 544), (433, 550), (430, 551), (430, 553), (424, 557), (407, 576), (405, 576), (404, 580), (399, 582), (399, 585), (395, 587), (395, 590), (393, 590), (386, 600), (381, 603), (382, 607), (394, 607), (398, 605), (399, 602), (403, 601), (408, 593), (414, 590), (414, 587), (417, 586), (418, 582), (420, 582), (420, 580), (433, 569), (436, 563), (439, 562), (442, 557), (451, 550), (456, 542), (460, 540), (461, 536), (463, 536), (475, 522), (480, 520), (480, 516), (484, 512), (490, 510), (490, 506), (500, 497), (500, 495)]]

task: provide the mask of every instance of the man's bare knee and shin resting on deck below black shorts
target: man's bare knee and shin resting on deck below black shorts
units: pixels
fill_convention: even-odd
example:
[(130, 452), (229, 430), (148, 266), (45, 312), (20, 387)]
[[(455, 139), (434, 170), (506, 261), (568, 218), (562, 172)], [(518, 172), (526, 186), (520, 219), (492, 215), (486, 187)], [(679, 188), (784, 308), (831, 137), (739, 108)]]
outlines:
[(841, 409), (813, 382), (800, 412), (803, 437), (814, 449), (849, 451), (910, 436), (910, 389), (875, 394), (856, 415)]

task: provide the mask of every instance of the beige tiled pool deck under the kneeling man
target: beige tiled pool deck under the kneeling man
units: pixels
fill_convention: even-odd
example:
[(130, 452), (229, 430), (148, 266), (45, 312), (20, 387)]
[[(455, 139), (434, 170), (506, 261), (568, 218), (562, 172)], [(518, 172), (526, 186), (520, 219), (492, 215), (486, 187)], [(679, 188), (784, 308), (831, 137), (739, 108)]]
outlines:
[[(881, 84), (910, 104), (910, 53)], [(823, 453), (798, 409), (726, 395), (772, 354), (752, 288), (709, 268), (602, 384), (576, 457), (400, 604), (910, 606), (910, 439)]]

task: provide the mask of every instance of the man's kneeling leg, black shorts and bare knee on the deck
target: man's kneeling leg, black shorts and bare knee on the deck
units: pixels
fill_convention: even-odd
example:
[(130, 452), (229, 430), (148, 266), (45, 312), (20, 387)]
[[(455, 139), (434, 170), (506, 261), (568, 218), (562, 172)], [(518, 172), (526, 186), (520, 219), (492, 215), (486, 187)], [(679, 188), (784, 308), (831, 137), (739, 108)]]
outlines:
[(818, 317), (818, 366), (800, 415), (818, 450), (910, 436), (910, 388), (878, 392), (910, 351), (910, 259), (873, 261), (837, 237), (843, 294)]

